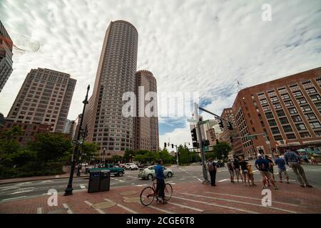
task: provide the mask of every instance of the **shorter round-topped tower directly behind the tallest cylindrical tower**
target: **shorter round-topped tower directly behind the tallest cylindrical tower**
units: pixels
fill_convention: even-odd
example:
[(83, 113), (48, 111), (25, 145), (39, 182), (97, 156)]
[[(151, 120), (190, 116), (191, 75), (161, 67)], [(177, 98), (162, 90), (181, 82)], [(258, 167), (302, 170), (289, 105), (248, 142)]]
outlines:
[[(139, 88), (141, 89), (141, 94), (139, 93)], [(157, 93), (157, 83), (156, 78), (154, 78), (153, 73), (150, 71), (138, 71), (136, 73), (136, 100), (140, 100), (140, 96), (145, 98), (146, 93), (156, 92)], [(158, 138), (158, 113), (157, 113), (157, 100), (153, 101), (144, 100), (143, 104), (136, 105), (136, 117), (134, 118), (134, 150), (149, 150), (157, 152), (159, 150), (159, 138)], [(145, 110), (148, 103), (153, 102), (155, 105), (151, 107), (151, 113), (154, 115), (148, 117), (139, 117), (139, 105), (143, 105)]]

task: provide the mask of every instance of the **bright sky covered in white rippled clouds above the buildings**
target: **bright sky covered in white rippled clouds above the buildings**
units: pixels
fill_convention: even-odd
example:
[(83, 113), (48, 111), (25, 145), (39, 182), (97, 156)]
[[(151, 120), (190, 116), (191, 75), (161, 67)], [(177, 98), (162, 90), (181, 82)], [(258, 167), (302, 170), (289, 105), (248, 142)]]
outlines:
[[(272, 20), (263, 21), (263, 4)], [(321, 66), (320, 0), (0, 0), (0, 20), (17, 48), (0, 93), (7, 115), (31, 68), (77, 80), (68, 118), (81, 113), (93, 86), (110, 21), (136, 26), (138, 70), (152, 71), (159, 92), (198, 92), (220, 114), (242, 88)], [(205, 118), (210, 118), (204, 115)], [(160, 118), (163, 142), (190, 142), (186, 118)]]

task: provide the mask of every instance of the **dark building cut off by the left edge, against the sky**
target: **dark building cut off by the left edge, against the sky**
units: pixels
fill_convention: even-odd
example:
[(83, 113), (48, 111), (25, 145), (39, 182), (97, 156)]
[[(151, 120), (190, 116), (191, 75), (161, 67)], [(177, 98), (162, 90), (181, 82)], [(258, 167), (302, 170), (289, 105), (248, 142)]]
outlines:
[(13, 46), (14, 43), (12, 43), (9, 34), (6, 32), (6, 28), (4, 28), (4, 25), (0, 21), (0, 93), (13, 71)]

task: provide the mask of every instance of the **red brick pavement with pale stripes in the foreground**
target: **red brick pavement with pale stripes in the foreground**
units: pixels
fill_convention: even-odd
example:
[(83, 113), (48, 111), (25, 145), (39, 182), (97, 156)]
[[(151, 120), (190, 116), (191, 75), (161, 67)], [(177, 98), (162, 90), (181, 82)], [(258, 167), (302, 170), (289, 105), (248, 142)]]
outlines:
[(49, 207), (49, 196), (0, 202), (0, 213), (26, 214), (296, 214), (321, 213), (321, 191), (280, 183), (271, 190), (272, 206), (262, 205), (262, 187), (246, 187), (242, 183), (218, 182), (218, 186), (200, 182), (173, 185), (168, 204), (146, 207), (140, 203), (144, 187), (111, 187), (109, 192), (88, 194), (87, 190), (64, 197), (58, 195), (58, 206)]

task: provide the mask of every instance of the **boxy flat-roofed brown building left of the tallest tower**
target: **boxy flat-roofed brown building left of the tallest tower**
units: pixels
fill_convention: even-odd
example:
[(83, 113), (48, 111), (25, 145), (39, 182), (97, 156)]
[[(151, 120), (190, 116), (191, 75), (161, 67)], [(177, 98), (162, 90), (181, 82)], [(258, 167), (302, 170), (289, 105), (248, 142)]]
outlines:
[(76, 80), (67, 73), (32, 69), (26, 76), (8, 120), (14, 123), (51, 125), (51, 132), (63, 133)]

